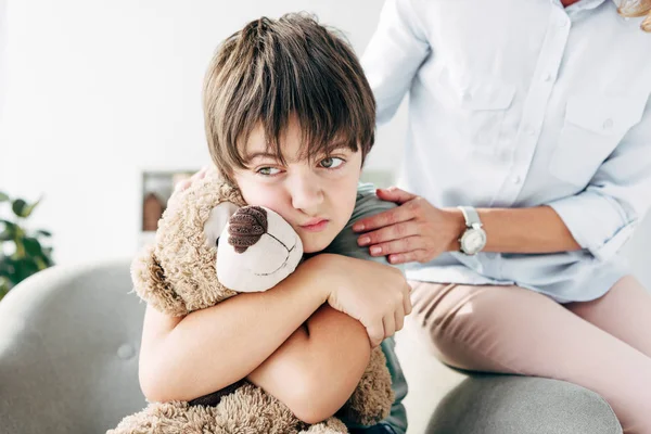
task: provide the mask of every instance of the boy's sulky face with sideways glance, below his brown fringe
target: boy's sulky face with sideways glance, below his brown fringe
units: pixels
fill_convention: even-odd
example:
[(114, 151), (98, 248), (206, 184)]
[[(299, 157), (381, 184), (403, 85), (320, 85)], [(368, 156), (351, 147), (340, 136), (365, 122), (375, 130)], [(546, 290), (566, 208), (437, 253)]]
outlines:
[(268, 153), (264, 130), (250, 135), (244, 150), (247, 168), (233, 178), (248, 205), (280, 214), (301, 237), (305, 253), (326, 248), (350, 219), (361, 173), (361, 152), (347, 148), (315, 161), (298, 159), (302, 131), (293, 118), (281, 140), (282, 165)]

